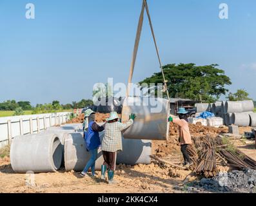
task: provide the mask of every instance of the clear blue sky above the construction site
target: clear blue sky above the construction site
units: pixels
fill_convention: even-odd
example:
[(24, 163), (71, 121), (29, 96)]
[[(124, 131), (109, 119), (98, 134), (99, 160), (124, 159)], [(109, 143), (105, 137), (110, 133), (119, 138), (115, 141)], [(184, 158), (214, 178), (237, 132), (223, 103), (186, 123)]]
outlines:
[[(25, 18), (27, 3), (35, 19)], [(227, 3), (229, 19), (219, 19)], [(219, 64), (256, 99), (256, 1), (148, 0), (163, 64)], [(92, 98), (96, 82), (128, 80), (139, 0), (0, 0), (0, 101)], [(159, 71), (145, 19), (133, 82)]]

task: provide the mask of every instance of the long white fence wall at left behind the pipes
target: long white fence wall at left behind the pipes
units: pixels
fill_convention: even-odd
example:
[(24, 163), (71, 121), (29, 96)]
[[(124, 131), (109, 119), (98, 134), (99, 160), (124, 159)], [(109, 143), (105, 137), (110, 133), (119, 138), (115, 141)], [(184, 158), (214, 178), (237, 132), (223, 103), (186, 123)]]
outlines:
[(12, 142), (19, 135), (40, 133), (44, 129), (66, 123), (70, 112), (23, 115), (0, 118), (0, 148)]

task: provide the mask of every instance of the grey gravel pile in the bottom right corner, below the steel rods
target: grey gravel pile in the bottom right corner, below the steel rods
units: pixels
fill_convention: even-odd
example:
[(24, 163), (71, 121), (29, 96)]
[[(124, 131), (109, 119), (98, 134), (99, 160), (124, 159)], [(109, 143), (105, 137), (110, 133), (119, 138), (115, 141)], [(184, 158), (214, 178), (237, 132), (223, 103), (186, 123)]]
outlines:
[(256, 171), (231, 171), (219, 173), (217, 176), (202, 178), (199, 186), (212, 192), (256, 192)]

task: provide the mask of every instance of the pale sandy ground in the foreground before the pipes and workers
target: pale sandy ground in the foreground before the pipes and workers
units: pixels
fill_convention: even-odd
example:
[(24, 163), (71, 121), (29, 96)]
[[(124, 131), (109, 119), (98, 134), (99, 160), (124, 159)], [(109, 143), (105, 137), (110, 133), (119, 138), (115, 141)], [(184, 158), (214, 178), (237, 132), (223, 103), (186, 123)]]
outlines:
[[(30, 174), (15, 174), (9, 158), (0, 160), (0, 192), (175, 192), (173, 187), (182, 183), (190, 171), (179, 171), (159, 165), (118, 165), (115, 185), (108, 185), (97, 178), (80, 178), (79, 173), (64, 172), (34, 174), (31, 184)], [(30, 183), (28, 183), (30, 182)]]

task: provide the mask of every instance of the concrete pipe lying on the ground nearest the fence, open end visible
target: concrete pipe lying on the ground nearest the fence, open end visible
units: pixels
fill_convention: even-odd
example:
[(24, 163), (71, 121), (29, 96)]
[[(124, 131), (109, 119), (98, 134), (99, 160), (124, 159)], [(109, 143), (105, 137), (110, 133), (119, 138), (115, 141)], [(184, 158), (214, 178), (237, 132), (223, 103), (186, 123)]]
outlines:
[(16, 173), (56, 172), (63, 151), (59, 138), (52, 134), (16, 136), (12, 140), (10, 160)]

